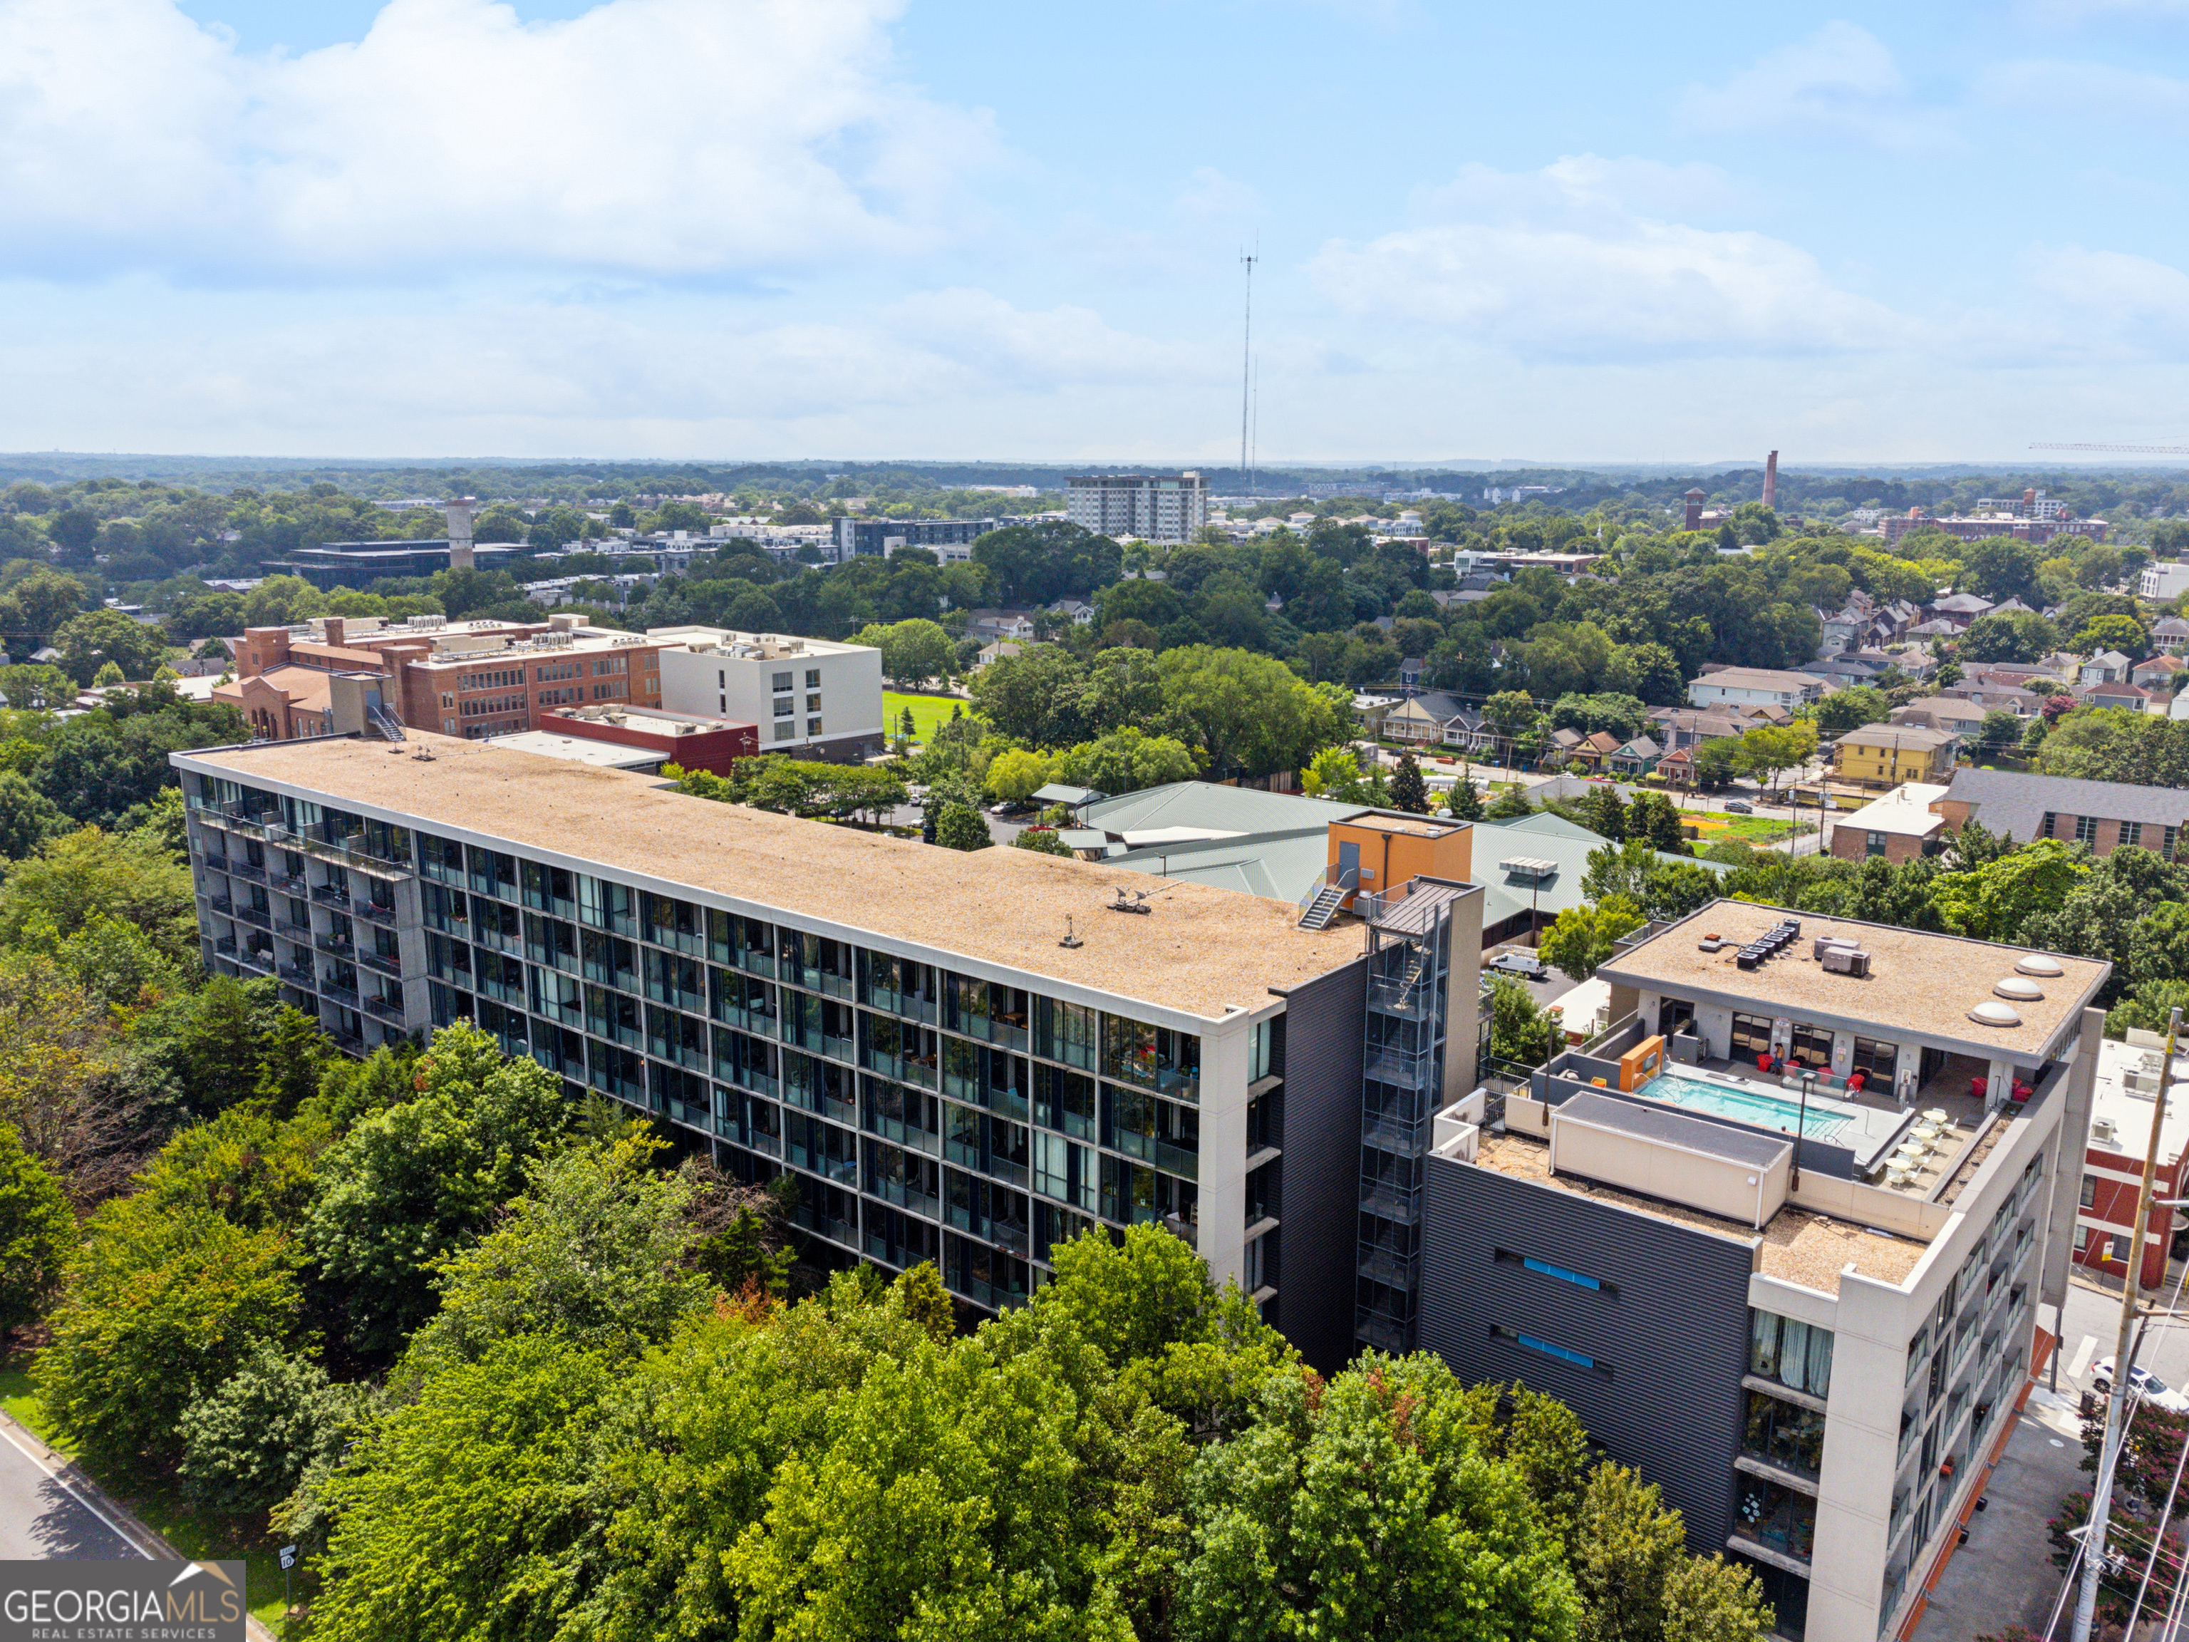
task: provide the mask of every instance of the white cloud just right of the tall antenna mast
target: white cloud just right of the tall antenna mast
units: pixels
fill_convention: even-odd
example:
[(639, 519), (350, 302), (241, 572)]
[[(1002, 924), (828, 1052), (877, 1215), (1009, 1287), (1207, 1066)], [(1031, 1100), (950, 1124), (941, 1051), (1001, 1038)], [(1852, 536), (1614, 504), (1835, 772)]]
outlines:
[(1447, 326), (1545, 359), (1815, 355), (1904, 344), (1915, 326), (1837, 289), (1786, 241), (1633, 210), (1637, 177), (1712, 182), (1646, 162), (1561, 160), (1537, 173), (1471, 166), (1427, 199), (1456, 221), (1366, 245), (1331, 241), (1311, 271), (1340, 309)]

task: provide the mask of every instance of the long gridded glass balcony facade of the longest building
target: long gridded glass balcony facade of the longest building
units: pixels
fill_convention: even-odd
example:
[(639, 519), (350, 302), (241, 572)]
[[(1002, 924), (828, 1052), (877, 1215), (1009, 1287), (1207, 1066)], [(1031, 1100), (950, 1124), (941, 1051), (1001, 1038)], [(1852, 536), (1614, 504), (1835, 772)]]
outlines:
[[(201, 836), (223, 845), (199, 880), (210, 909), (241, 920), (223, 909), (247, 906), (256, 889), (267, 948), (287, 930), (291, 1001), (352, 1049), (381, 1040), (348, 1007), (366, 1003), (366, 983), (385, 1036), (401, 1038), (409, 979), (409, 1025), (475, 1020), (574, 1092), (600, 1090), (707, 1136), (744, 1178), (788, 1171), (808, 1235), (884, 1265), (937, 1261), (978, 1305), (1022, 1298), (1044, 1281), (1049, 1248), (1097, 1222), (1154, 1222), (1200, 1241), (1193, 1033), (606, 874), (232, 782), (197, 786), (193, 812), (217, 819)], [(228, 823), (260, 814), (276, 841), (289, 828), (333, 845), (276, 852), (274, 898), (225, 871), (228, 843), (236, 860), (245, 854)], [(247, 841), (269, 858), (263, 825), (252, 819)], [(387, 884), (352, 878), (352, 863)], [(409, 902), (396, 893), (405, 880)], [(366, 902), (355, 926), (352, 900)], [(409, 976), (405, 904), (422, 955)], [(225, 959), (239, 941), (221, 928), (208, 922), (208, 948)], [(247, 955), (234, 968), (254, 972)], [(1261, 1044), (1267, 1060), (1267, 1033)]]

